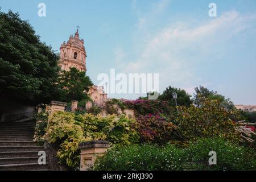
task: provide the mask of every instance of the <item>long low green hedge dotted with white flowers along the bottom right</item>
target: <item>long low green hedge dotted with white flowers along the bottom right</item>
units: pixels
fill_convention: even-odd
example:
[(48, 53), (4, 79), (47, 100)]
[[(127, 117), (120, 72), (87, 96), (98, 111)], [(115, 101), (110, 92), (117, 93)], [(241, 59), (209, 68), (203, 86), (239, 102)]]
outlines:
[[(209, 152), (217, 152), (217, 165), (209, 165)], [(114, 147), (96, 162), (97, 170), (255, 170), (255, 152), (223, 139), (201, 139), (188, 148), (168, 144)]]

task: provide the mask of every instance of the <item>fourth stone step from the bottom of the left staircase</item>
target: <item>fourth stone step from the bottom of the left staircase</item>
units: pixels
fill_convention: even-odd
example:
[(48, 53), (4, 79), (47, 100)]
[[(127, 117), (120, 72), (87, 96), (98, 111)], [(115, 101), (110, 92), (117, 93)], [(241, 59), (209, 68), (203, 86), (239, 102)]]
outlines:
[(0, 152), (43, 151), (44, 146), (0, 146)]

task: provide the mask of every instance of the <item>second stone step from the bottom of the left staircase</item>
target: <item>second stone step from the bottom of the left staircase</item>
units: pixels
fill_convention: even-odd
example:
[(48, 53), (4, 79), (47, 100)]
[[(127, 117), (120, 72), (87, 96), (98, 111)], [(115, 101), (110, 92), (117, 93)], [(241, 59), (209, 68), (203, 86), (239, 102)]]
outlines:
[(38, 163), (39, 156), (23, 158), (0, 158), (0, 165)]

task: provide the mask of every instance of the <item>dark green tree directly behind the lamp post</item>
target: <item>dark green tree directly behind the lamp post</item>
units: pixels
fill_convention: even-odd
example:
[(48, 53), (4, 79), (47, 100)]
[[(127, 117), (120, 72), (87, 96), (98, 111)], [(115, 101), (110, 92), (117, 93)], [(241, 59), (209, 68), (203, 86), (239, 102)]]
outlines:
[(181, 90), (180, 88), (173, 88), (169, 86), (164, 90), (163, 94), (159, 96), (159, 100), (168, 101), (170, 106), (176, 106), (175, 100), (172, 97), (172, 93), (177, 93), (177, 105), (178, 106), (189, 106), (193, 102), (191, 97), (185, 90)]

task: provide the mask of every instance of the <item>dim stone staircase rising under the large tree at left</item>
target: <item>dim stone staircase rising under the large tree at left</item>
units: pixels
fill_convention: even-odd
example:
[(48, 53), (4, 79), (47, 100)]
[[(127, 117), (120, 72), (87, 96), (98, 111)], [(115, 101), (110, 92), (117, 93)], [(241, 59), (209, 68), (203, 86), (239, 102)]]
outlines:
[(49, 170), (38, 164), (43, 146), (33, 142), (35, 119), (0, 123), (0, 171)]

